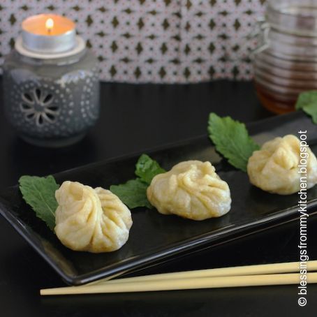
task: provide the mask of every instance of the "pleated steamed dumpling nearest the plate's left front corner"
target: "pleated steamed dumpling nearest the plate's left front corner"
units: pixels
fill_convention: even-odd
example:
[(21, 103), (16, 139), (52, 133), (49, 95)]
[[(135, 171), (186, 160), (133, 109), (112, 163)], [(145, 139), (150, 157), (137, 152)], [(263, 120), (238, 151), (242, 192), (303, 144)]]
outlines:
[(128, 240), (131, 212), (111, 191), (67, 181), (55, 196), (55, 233), (64, 246), (100, 253), (115, 251)]

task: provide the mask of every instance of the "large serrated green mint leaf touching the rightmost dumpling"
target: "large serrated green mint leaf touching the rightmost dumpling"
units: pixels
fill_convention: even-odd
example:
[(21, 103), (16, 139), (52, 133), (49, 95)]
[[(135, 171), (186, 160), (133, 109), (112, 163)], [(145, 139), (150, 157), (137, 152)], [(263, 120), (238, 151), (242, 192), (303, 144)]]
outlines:
[(211, 113), (208, 132), (216, 150), (235, 168), (246, 172), (249, 157), (260, 149), (260, 146), (249, 136), (246, 126), (230, 117), (221, 118)]

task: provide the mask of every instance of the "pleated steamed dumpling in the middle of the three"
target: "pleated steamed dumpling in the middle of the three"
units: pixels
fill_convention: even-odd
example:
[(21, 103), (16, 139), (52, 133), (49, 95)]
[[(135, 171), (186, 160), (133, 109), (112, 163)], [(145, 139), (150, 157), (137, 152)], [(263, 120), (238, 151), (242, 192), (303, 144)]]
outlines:
[(219, 217), (230, 210), (229, 186), (216, 175), (211, 163), (186, 161), (156, 175), (147, 198), (161, 214), (193, 220)]

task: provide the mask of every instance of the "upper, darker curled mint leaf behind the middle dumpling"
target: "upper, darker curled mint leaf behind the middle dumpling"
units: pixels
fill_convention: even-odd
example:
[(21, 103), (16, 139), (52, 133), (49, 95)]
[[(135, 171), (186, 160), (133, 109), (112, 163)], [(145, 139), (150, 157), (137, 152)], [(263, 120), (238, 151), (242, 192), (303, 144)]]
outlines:
[(135, 175), (147, 184), (151, 184), (153, 177), (163, 172), (166, 171), (147, 154), (142, 154), (135, 165)]

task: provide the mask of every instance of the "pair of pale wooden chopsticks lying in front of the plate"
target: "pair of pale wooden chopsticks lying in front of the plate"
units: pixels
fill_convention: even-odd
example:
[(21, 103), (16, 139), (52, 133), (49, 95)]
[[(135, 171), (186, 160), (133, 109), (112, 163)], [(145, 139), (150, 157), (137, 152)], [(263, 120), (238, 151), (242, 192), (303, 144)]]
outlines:
[[(307, 283), (317, 283), (317, 260), (307, 262)], [(242, 286), (290, 285), (300, 283), (300, 262), (223, 267), (100, 280), (84, 286), (47, 288), (40, 295), (149, 292)], [(313, 273), (314, 272), (314, 273)]]

